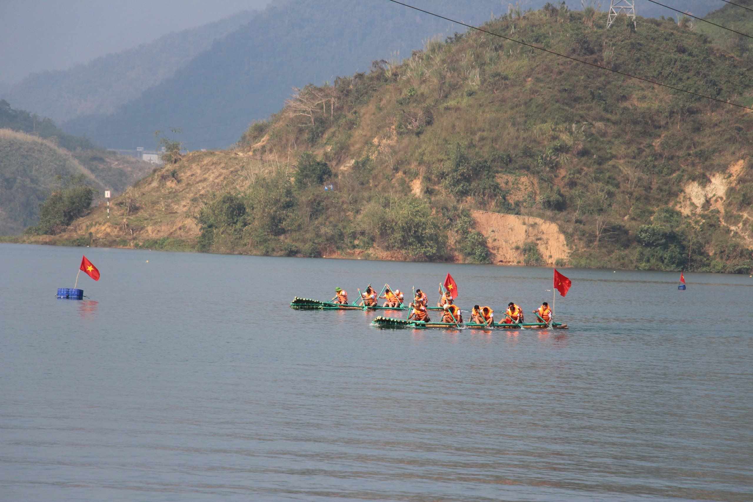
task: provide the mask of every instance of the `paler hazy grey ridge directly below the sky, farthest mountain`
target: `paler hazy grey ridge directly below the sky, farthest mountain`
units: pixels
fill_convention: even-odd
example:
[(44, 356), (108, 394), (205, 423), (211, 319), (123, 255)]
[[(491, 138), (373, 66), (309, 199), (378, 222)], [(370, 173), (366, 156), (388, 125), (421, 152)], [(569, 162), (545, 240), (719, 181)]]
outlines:
[(99, 57), (85, 65), (35, 73), (9, 90), (0, 88), (0, 97), (59, 123), (82, 115), (111, 114), (144, 90), (174, 75), (178, 68), (207, 50), (215, 39), (235, 31), (254, 15), (243, 11)]

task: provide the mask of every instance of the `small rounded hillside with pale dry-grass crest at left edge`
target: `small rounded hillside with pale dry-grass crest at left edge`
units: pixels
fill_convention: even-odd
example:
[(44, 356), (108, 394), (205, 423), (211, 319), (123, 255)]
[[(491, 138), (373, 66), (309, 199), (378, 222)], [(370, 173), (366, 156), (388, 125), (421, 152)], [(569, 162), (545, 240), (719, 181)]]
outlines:
[[(0, 235), (37, 224), (40, 205), (69, 184), (102, 188), (69, 151), (36, 136), (0, 129)], [(75, 212), (76, 217), (81, 214)]]

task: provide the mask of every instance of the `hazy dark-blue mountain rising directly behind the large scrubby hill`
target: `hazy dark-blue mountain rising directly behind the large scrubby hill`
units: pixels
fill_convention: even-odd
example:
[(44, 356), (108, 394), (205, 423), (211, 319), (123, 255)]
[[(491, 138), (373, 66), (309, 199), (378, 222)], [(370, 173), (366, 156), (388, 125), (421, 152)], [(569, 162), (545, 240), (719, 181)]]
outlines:
[[(498, 0), (407, 3), (468, 23), (482, 23), (492, 13), (508, 11), (508, 4)], [(517, 3), (525, 9), (545, 2)], [(567, 3), (581, 6), (578, 0)], [(643, 15), (675, 14), (642, 3), (647, 4), (639, 8)], [(683, 8), (705, 13), (709, 8), (703, 5), (695, 0), (684, 2)], [(225, 147), (237, 140), (248, 123), (278, 110), (291, 87), (367, 71), (374, 59), (404, 59), (432, 35), (454, 32), (465, 29), (390, 2), (274, 4), (111, 116), (81, 117), (64, 126), (111, 148), (151, 145), (154, 130), (170, 127), (183, 130), (178, 139), (188, 148)]]

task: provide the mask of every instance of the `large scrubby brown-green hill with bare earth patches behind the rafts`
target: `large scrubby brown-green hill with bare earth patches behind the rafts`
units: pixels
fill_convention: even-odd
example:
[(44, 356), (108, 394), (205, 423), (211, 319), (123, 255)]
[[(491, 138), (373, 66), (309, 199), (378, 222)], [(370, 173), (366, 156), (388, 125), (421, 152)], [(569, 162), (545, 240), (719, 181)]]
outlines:
[[(306, 86), (61, 236), (94, 245), (627, 269), (753, 268), (753, 58), (687, 23), (549, 6)], [(324, 190), (327, 187), (327, 190)], [(122, 209), (121, 209), (122, 208)], [(137, 209), (134, 209), (137, 208)], [(50, 239), (56, 242), (55, 239)]]

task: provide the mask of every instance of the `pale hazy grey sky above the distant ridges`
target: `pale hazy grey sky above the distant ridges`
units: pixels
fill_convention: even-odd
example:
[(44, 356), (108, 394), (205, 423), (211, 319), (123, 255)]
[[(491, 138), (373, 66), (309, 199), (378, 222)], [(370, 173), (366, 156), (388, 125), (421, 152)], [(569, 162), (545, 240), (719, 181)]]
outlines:
[(271, 1), (0, 0), (0, 87)]

